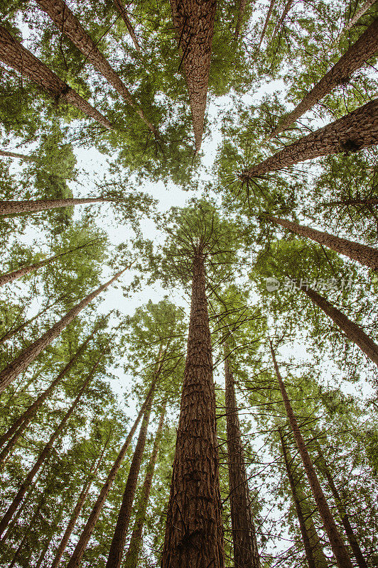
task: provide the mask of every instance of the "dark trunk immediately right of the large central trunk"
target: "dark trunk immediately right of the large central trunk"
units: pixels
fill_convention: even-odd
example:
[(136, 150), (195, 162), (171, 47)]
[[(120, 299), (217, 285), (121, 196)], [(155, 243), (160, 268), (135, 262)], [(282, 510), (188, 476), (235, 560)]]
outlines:
[(228, 355), (229, 351), (225, 347), (227, 461), (229, 462), (229, 502), (231, 505), (234, 564), (238, 568), (259, 568), (259, 550), (240, 435), (234, 376), (229, 366)]

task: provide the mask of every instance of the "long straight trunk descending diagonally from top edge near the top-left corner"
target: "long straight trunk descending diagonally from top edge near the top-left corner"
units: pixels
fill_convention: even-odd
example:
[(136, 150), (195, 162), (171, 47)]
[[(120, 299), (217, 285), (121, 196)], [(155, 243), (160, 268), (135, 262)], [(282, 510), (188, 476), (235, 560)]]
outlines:
[(67, 35), (77, 49), (85, 55), (85, 58), (92, 63), (93, 67), (112, 84), (121, 97), (139, 114), (148, 126), (148, 129), (156, 134), (156, 129), (146, 119), (144, 112), (134, 100), (129, 89), (127, 89), (124, 82), (121, 81), (114, 69), (109, 65), (107, 59), (104, 58), (104, 55), (97, 48), (97, 44), (90, 38), (90, 35), (82, 27), (80, 21), (68, 8), (67, 4), (63, 0), (36, 1), (38, 6), (50, 16), (60, 33)]

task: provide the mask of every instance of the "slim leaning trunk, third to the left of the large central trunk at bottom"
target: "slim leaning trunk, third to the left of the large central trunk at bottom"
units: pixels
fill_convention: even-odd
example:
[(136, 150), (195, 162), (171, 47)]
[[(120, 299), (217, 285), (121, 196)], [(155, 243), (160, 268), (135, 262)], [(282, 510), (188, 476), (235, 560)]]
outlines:
[(144, 415), (144, 411), (146, 410), (146, 405), (148, 404), (148, 400), (153, 395), (154, 390), (155, 390), (155, 381), (152, 382), (151, 387), (150, 387), (150, 389), (149, 389), (149, 391), (146, 395), (146, 400), (144, 400), (144, 403), (141, 406), (141, 410), (139, 410), (139, 415), (136, 417), (134, 425), (131, 427), (129, 435), (126, 437), (124, 445), (121, 447), (119, 454), (117, 456), (117, 459), (116, 459), (116, 461), (114, 461), (112, 469), (109, 471), (109, 474), (107, 476), (107, 480), (105, 481), (104, 485), (102, 486), (102, 489), (99, 493), (99, 496), (97, 497), (97, 501), (96, 501), (95, 505), (93, 506), (92, 512), (90, 513), (90, 516), (87, 520), (87, 523), (86, 523), (84, 529), (82, 530), (82, 534), (80, 536), (79, 542), (77, 542), (75, 550), (72, 552), (72, 555), (70, 557), (70, 561), (67, 564), (67, 568), (77, 568), (80, 564), (80, 561), (82, 559), (82, 555), (85, 552), (87, 544), (88, 544), (90, 537), (92, 535), (93, 529), (95, 528), (95, 525), (97, 523), (99, 515), (102, 511), (102, 507), (104, 506), (107, 495), (108, 495), (110, 488), (112, 487), (113, 481), (114, 481), (114, 479), (117, 475), (117, 471), (119, 470), (119, 467), (121, 466), (121, 463), (122, 463), (122, 461), (123, 461), (123, 459), (126, 455), (126, 452), (129, 449), (131, 439), (133, 439), (136, 428), (138, 427), (138, 424), (141, 420), (141, 417)]

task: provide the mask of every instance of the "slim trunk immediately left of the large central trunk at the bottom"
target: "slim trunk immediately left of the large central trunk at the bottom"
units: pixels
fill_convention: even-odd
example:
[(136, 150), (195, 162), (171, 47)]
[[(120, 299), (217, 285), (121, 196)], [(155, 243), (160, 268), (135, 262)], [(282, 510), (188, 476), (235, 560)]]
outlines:
[(151, 457), (148, 461), (148, 465), (146, 468), (146, 476), (144, 478), (144, 484), (141, 489), (139, 507), (135, 515), (134, 528), (131, 534), (129, 548), (124, 558), (124, 563), (123, 563), (124, 568), (138, 568), (139, 552), (141, 550), (144, 523), (146, 522), (146, 511), (151, 493), (153, 473), (155, 471), (156, 460), (158, 458), (158, 450), (160, 447), (161, 437), (163, 435), (163, 424), (165, 416), (166, 416), (166, 403), (163, 404), (163, 408), (161, 409), (160, 421), (158, 423), (158, 430), (156, 430)]

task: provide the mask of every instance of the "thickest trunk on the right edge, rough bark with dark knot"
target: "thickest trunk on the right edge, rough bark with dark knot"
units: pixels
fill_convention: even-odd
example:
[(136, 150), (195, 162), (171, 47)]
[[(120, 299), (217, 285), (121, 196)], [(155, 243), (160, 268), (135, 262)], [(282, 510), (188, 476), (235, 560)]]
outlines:
[(290, 146), (243, 170), (239, 178), (247, 181), (269, 172), (318, 158), (320, 155), (355, 152), (378, 143), (378, 99), (364, 104), (342, 119), (331, 122)]

